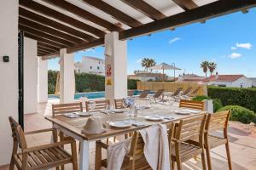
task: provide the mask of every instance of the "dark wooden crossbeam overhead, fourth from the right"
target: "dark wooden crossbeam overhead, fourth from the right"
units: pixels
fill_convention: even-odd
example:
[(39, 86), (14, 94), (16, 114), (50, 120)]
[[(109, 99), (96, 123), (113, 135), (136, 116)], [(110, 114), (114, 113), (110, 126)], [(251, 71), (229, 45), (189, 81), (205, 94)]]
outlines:
[(56, 7), (63, 8), (67, 10), (70, 13), (76, 14), (79, 17), (83, 18), (84, 20), (90, 20), (91, 22), (95, 23), (96, 25), (102, 26), (108, 31), (122, 31), (123, 29), (119, 26), (116, 26), (112, 24), (111, 22), (108, 22), (107, 20), (103, 20), (102, 18), (91, 14), (84, 10), (83, 8), (79, 8), (76, 5), (73, 5), (72, 3), (68, 3), (65, 0), (43, 0), (46, 3), (50, 3), (52, 5), (55, 5)]

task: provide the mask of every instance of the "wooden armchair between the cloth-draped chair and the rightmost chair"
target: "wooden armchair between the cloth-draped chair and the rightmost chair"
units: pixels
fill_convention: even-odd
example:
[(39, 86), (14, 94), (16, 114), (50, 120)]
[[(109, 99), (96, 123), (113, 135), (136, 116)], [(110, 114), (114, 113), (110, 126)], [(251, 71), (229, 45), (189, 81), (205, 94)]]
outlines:
[[(177, 170), (182, 169), (182, 163), (201, 155), (203, 169), (207, 169), (204, 154), (204, 127), (206, 115), (201, 114), (178, 122), (174, 130), (169, 131), (170, 159), (172, 169), (177, 162)], [(189, 144), (187, 140), (198, 139), (199, 144)]]

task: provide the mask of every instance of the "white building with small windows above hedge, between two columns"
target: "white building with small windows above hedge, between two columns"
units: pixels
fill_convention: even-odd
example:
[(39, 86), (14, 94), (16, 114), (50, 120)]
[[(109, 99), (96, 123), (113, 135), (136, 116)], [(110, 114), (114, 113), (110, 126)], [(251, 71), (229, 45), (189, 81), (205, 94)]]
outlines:
[(83, 57), (81, 71), (86, 73), (96, 73), (104, 75), (105, 61), (101, 59), (91, 59), (90, 57)]

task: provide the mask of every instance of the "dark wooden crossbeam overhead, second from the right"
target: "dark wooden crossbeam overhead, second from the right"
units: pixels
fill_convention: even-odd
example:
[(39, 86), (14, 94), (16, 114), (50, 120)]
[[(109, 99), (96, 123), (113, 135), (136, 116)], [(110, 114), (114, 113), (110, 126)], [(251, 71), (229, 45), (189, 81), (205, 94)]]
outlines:
[(145, 14), (152, 20), (161, 20), (166, 18), (165, 14), (162, 14), (156, 8), (153, 8), (151, 5), (144, 1), (137, 1), (137, 0), (122, 0), (122, 2), (126, 3), (127, 5), (131, 6), (132, 8), (136, 8), (141, 13)]

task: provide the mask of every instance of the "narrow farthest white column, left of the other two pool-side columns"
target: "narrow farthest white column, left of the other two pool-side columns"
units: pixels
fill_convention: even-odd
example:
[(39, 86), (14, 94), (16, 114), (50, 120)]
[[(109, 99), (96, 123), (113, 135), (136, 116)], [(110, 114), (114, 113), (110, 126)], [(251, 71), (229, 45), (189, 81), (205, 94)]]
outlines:
[(48, 60), (38, 57), (38, 103), (48, 101)]

